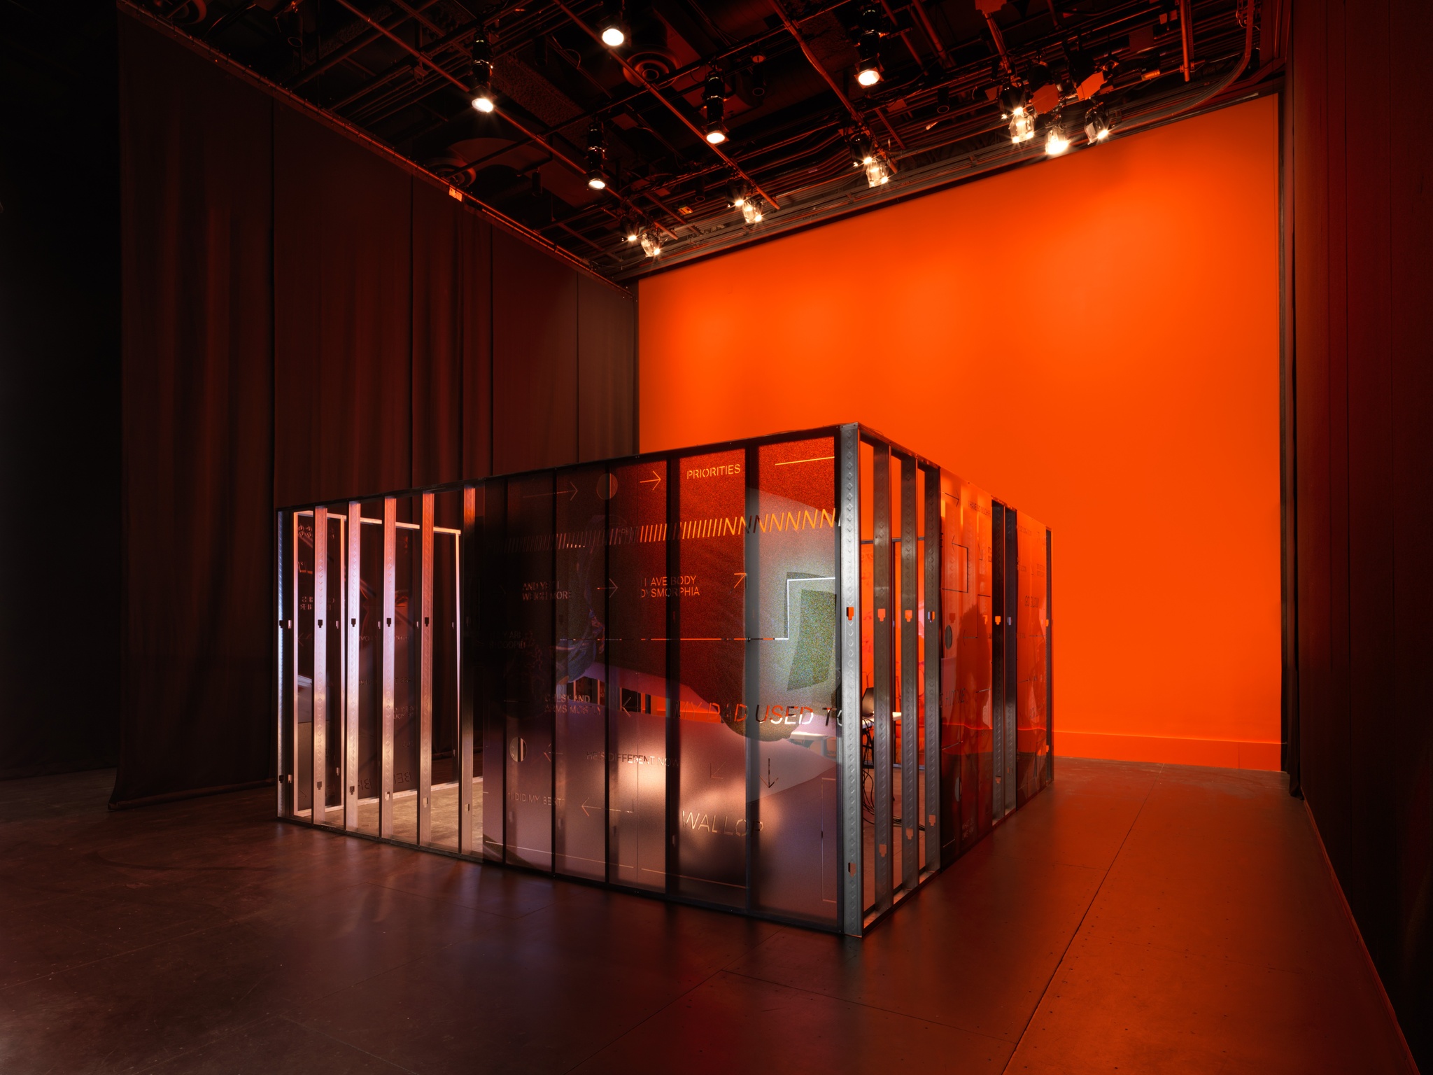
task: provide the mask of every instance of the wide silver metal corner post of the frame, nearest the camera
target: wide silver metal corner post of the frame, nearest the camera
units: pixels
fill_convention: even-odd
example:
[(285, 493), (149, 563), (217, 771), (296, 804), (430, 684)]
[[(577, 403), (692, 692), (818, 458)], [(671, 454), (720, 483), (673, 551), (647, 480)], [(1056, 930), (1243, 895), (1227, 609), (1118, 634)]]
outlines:
[(860, 429), (843, 426), (837, 447), (837, 569), (841, 588), (837, 796), (840, 797), (841, 932), (861, 936), (861, 490)]

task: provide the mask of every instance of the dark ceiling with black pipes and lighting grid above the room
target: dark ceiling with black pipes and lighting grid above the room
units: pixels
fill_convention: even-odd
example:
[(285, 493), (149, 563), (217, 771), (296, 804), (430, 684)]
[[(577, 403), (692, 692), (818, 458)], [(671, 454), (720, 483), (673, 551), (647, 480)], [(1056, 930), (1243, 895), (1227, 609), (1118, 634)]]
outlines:
[[(626, 0), (626, 43), (608, 47), (612, 4), (142, 6), (615, 278), (1040, 159), (1052, 122), (1078, 150), (1095, 105), (1118, 138), (1281, 70), (1265, 29), (1280, 0)], [(480, 32), (489, 115), (470, 102)], [(870, 87), (856, 77), (863, 32), (883, 67)], [(704, 92), (716, 85), (729, 139), (712, 146)], [(1009, 87), (1036, 106), (1019, 146), (1002, 118)], [(588, 185), (595, 133), (600, 191)], [(888, 182), (853, 166), (853, 143)], [(748, 192), (755, 224), (731, 205)], [(626, 238), (639, 228), (658, 257)]]

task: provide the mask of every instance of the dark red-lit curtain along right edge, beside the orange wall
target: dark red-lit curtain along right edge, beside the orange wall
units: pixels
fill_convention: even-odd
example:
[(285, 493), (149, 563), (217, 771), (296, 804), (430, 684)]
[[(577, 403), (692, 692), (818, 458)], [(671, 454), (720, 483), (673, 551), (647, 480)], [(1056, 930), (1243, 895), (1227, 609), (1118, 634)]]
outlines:
[(1433, 1071), (1433, 146), (1389, 109), (1420, 93), (1433, 6), (1297, 0), (1290, 29), (1290, 768), (1414, 1058)]

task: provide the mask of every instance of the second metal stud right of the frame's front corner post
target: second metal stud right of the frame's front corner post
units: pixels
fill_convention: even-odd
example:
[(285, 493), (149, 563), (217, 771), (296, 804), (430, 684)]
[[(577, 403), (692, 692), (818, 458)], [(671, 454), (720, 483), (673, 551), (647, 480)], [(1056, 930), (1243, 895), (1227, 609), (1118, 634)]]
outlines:
[(900, 462), (900, 883), (920, 883), (920, 543), (916, 522), (916, 460)]

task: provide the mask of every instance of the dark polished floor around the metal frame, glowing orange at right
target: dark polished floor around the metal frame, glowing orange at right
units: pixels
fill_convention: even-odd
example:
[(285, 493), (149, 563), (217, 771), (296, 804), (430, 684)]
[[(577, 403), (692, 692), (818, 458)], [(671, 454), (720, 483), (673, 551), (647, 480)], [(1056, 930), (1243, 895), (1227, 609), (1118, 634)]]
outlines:
[(1058, 763), (864, 942), (0, 783), (0, 1072), (1396, 1072), (1283, 777)]

